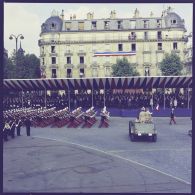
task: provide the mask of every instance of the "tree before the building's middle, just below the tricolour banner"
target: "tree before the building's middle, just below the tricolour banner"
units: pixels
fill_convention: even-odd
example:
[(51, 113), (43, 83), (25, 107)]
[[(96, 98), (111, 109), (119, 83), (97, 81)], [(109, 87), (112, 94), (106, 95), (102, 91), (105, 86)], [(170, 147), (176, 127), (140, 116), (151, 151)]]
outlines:
[(113, 76), (139, 76), (139, 73), (135, 68), (131, 66), (127, 58), (118, 59), (117, 63), (112, 66)]

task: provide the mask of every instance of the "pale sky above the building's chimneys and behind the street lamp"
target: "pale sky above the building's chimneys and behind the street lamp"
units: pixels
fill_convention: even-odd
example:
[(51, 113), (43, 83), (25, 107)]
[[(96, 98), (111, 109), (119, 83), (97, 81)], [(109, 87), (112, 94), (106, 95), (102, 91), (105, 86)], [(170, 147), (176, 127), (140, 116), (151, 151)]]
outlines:
[[(151, 11), (154, 17), (160, 17), (168, 6), (184, 19), (187, 34), (192, 32), (192, 3), (4, 3), (4, 48), (10, 56), (16, 43), (9, 36), (22, 34), (24, 39), (21, 44), (25, 54), (39, 57), (41, 25), (51, 16), (53, 10), (60, 15), (63, 9), (65, 19), (69, 19), (71, 14), (76, 14), (77, 19), (86, 19), (88, 12), (94, 13), (94, 19), (109, 18), (112, 10), (116, 11), (117, 18), (132, 18), (136, 8), (141, 17), (149, 17)], [(19, 45), (20, 40), (18, 48)]]

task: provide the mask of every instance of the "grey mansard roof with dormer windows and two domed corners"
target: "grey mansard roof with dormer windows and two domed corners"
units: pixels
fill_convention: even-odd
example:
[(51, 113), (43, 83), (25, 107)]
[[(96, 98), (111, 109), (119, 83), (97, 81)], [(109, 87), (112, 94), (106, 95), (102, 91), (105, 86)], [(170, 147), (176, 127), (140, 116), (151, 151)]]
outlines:
[[(120, 23), (121, 22), (121, 23)], [(81, 24), (83, 23), (83, 24)], [(120, 24), (119, 24), (120, 23)], [(79, 29), (79, 25), (83, 26)], [(106, 26), (107, 25), (107, 26)], [(69, 27), (67, 27), (69, 26)], [(168, 12), (161, 17), (132, 17), (132, 18), (103, 18), (103, 19), (76, 19), (63, 20), (53, 15), (42, 24), (41, 33), (67, 31), (102, 31), (102, 30), (150, 30), (180, 28), (186, 30), (184, 20), (175, 12)]]

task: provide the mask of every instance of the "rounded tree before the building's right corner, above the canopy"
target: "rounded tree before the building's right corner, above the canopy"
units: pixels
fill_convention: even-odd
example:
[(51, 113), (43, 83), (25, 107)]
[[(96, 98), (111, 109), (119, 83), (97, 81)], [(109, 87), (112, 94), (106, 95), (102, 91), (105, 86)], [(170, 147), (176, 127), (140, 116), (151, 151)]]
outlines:
[(164, 76), (177, 76), (182, 74), (183, 64), (176, 53), (165, 54), (164, 59), (160, 62), (160, 69)]

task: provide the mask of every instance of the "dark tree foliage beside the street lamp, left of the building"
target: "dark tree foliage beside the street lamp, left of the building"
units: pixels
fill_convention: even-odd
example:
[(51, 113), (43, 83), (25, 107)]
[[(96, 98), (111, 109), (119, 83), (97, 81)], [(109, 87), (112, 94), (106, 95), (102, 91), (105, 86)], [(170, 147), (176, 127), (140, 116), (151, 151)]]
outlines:
[(5, 79), (32, 79), (40, 78), (40, 61), (34, 54), (24, 55), (13, 53), (8, 59), (4, 59)]

